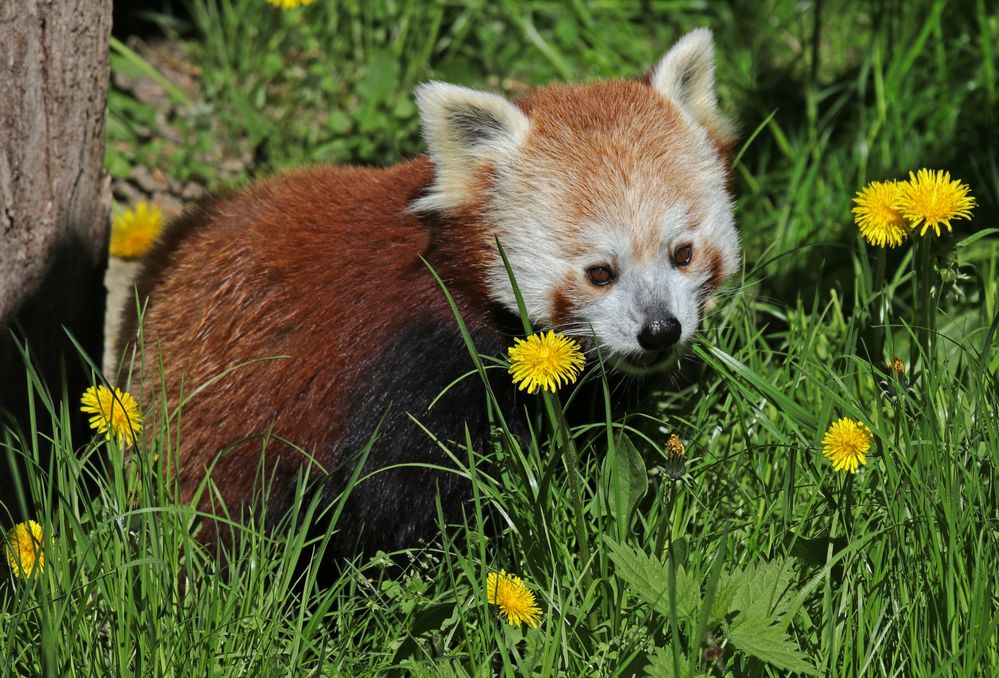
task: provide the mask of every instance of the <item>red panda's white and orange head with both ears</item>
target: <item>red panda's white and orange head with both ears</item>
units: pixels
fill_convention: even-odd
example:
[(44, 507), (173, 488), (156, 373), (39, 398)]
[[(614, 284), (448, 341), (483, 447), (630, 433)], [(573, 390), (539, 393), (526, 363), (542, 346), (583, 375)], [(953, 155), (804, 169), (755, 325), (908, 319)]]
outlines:
[(414, 209), (474, 215), (490, 294), (531, 320), (647, 362), (694, 334), (739, 265), (731, 127), (711, 33), (688, 33), (645, 81), (551, 85), (517, 104), (431, 82), (417, 91), (434, 183)]

